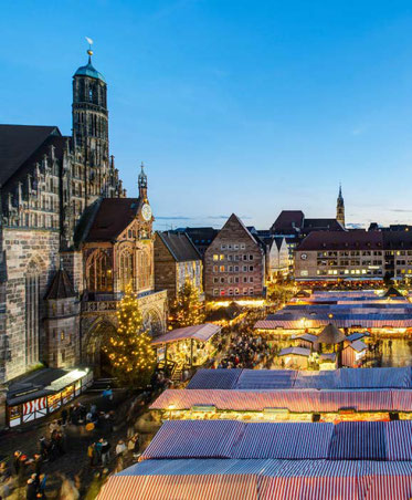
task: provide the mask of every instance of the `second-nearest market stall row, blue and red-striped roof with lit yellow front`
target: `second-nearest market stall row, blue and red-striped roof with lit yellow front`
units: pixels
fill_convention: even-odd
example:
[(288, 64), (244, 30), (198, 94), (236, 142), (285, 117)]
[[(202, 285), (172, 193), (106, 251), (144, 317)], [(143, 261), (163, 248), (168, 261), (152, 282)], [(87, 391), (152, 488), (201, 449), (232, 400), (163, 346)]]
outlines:
[(186, 389), (165, 390), (150, 409), (163, 420), (408, 420), (411, 368), (202, 369)]

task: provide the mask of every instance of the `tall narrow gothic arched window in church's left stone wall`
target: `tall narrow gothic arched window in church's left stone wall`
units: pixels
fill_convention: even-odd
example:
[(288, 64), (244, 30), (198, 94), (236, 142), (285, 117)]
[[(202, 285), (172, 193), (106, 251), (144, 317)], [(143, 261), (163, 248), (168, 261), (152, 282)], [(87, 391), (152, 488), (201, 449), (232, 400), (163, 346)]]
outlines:
[(31, 261), (25, 273), (25, 363), (39, 361), (39, 265)]

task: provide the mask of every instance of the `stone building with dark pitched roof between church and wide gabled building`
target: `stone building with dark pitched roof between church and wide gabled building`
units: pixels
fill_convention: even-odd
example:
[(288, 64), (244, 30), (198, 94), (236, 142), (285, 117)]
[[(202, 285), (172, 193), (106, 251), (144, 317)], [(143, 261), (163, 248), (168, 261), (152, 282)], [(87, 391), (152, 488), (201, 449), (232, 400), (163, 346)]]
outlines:
[(155, 238), (155, 288), (167, 290), (175, 301), (186, 282), (203, 293), (203, 263), (197, 248), (183, 232), (158, 231)]

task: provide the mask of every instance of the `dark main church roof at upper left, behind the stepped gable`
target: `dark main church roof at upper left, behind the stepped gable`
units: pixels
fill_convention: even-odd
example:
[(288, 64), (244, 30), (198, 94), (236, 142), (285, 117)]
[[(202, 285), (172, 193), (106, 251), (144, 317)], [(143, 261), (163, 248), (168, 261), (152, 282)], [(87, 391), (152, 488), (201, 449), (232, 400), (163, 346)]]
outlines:
[(55, 126), (0, 125), (0, 183), (4, 185), (47, 139), (52, 144), (59, 138)]

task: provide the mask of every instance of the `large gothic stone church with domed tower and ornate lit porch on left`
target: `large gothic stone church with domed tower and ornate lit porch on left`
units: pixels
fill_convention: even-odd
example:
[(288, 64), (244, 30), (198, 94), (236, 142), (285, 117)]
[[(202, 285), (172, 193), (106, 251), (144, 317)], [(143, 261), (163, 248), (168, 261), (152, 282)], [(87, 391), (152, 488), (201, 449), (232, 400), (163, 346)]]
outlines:
[(131, 283), (146, 326), (165, 331), (155, 292), (154, 216), (144, 166), (127, 198), (109, 155), (107, 84), (73, 76), (73, 128), (0, 125), (0, 384), (40, 364), (104, 371), (105, 336)]

